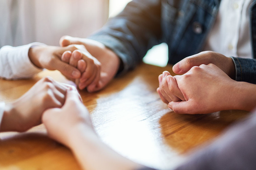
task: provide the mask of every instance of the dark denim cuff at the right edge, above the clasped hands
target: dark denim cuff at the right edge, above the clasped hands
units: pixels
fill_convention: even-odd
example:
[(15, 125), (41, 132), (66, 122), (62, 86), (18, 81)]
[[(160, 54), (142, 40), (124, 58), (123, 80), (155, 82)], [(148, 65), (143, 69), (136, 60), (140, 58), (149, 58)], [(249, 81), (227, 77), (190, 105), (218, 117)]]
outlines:
[(236, 81), (256, 84), (256, 60), (231, 57), (236, 67)]

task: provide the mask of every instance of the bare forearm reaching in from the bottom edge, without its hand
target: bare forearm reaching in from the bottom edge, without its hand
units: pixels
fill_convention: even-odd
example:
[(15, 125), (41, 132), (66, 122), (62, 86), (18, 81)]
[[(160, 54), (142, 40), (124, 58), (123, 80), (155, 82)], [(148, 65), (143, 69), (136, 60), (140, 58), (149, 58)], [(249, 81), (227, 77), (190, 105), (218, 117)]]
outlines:
[(102, 143), (91, 128), (80, 126), (70, 138), (69, 147), (83, 169), (135, 170), (141, 167)]

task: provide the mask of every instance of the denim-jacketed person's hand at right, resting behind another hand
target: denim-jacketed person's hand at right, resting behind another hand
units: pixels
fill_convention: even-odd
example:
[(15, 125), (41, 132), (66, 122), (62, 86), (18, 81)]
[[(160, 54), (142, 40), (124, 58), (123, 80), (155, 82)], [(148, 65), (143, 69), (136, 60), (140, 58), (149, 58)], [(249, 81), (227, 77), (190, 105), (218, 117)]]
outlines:
[(200, 66), (201, 64), (214, 64), (224, 71), (232, 79), (235, 79), (236, 69), (234, 62), (231, 58), (226, 57), (220, 53), (213, 51), (204, 51), (179, 61), (176, 63), (172, 70), (176, 74), (184, 74), (193, 66)]

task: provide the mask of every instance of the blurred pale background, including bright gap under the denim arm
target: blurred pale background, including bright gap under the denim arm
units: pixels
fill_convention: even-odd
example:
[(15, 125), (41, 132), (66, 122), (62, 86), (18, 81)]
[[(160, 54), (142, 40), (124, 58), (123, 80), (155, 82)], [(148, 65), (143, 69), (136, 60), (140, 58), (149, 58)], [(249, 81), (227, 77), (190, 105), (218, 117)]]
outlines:
[[(31, 42), (59, 45), (63, 35), (86, 38), (131, 0), (0, 0), (0, 47)], [(156, 60), (157, 59), (157, 60)], [(143, 61), (165, 66), (166, 44), (148, 51)]]

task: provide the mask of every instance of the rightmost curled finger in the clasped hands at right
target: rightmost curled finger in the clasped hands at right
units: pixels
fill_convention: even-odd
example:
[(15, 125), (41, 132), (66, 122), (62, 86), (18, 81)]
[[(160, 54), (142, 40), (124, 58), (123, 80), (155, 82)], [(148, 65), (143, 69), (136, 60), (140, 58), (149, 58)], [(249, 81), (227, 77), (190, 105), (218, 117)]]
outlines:
[[(166, 81), (167, 81), (167, 85), (168, 85), (168, 91), (171, 92), (173, 95), (177, 96), (180, 100), (182, 101), (186, 101), (182, 92), (180, 91), (178, 84), (175, 80), (174, 77), (172, 77), (171, 75), (168, 75), (166, 77)], [(172, 100), (174, 101), (174, 100)], [(177, 100), (176, 102), (178, 102), (179, 100)]]

